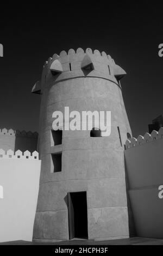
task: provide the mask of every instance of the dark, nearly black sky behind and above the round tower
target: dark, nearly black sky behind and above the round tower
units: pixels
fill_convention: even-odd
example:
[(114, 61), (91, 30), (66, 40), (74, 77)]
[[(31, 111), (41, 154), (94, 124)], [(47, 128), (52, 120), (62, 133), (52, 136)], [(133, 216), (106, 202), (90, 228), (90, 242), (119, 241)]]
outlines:
[[(133, 135), (163, 114), (163, 8), (158, 1), (1, 4), (0, 127), (38, 131), (40, 95), (31, 94), (54, 53), (87, 47), (110, 54), (127, 72), (123, 98)], [(109, 110), (109, 109), (108, 109)]]

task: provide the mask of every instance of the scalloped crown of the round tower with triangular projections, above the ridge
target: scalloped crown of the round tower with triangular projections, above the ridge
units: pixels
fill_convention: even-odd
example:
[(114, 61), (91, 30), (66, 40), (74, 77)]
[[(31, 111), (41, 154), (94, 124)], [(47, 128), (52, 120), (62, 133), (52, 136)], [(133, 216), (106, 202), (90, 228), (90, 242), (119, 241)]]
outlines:
[[(85, 75), (84, 66), (92, 64), (92, 70)], [(43, 66), (42, 77), (32, 88), (32, 93), (41, 94), (41, 90), (52, 77), (57, 83), (61, 80), (71, 79), (75, 77), (100, 77), (116, 83), (126, 75), (120, 66), (116, 65), (114, 59), (105, 52), (100, 53), (98, 50), (92, 52), (91, 48), (86, 51), (78, 48), (75, 52), (70, 49), (68, 53), (61, 51), (60, 54), (54, 54), (49, 58)]]

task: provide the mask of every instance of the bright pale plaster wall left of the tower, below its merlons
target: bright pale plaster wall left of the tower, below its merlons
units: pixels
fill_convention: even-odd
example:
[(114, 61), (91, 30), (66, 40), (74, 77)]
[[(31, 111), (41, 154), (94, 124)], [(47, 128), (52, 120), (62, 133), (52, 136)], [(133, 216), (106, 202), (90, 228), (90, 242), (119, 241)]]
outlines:
[(32, 241), (40, 160), (0, 159), (0, 242)]

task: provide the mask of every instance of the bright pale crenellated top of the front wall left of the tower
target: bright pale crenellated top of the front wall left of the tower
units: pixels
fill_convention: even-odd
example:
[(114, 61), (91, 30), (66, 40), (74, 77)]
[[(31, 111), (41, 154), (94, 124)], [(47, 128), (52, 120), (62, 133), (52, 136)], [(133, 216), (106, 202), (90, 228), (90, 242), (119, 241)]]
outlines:
[(0, 149), (0, 160), (1, 159), (29, 159), (29, 160), (39, 160), (39, 153), (34, 151), (32, 154), (26, 150), (22, 153), (21, 150), (17, 150), (15, 153), (11, 149), (5, 151)]

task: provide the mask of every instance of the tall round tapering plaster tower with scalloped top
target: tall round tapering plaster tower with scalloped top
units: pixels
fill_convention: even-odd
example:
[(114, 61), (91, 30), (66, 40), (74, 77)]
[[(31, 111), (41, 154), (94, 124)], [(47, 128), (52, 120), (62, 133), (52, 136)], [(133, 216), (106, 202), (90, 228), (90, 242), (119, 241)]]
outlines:
[[(42, 94), (34, 240), (129, 236), (124, 144), (131, 131), (120, 84), (125, 74), (105, 52), (90, 48), (62, 51), (45, 63), (33, 88)], [(81, 116), (111, 111), (110, 136), (94, 127), (54, 131), (53, 112), (64, 114), (65, 107)]]

